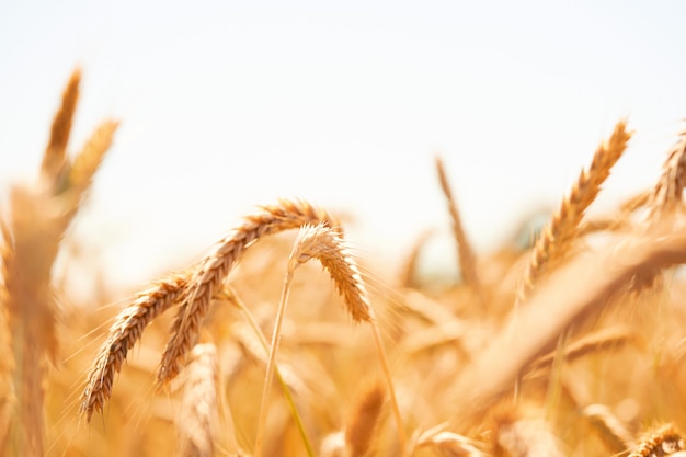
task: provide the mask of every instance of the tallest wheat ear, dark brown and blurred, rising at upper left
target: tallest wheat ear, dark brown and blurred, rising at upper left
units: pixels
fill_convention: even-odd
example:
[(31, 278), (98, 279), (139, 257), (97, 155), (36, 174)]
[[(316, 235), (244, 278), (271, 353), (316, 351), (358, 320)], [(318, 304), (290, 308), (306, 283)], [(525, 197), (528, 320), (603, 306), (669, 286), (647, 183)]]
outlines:
[(66, 162), (65, 152), (71, 133), (71, 121), (79, 100), (79, 83), (81, 70), (78, 68), (71, 73), (67, 88), (62, 93), (61, 106), (55, 114), (50, 128), (50, 138), (43, 156), (41, 174), (48, 182), (53, 182)]

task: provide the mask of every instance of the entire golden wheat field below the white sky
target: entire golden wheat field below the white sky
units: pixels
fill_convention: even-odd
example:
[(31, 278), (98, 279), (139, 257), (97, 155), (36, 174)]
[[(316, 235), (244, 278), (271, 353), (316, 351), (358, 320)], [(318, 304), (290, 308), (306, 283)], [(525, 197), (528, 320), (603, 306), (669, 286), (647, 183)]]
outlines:
[(77, 302), (54, 265), (118, 127), (72, 152), (80, 78), (35, 181), (4, 190), (1, 455), (686, 455), (686, 134), (652, 188), (592, 218), (619, 121), (530, 242), (491, 254), (437, 158), (449, 284), (418, 274), (431, 235), (374, 271), (344, 218), (281, 199), (136, 294)]

